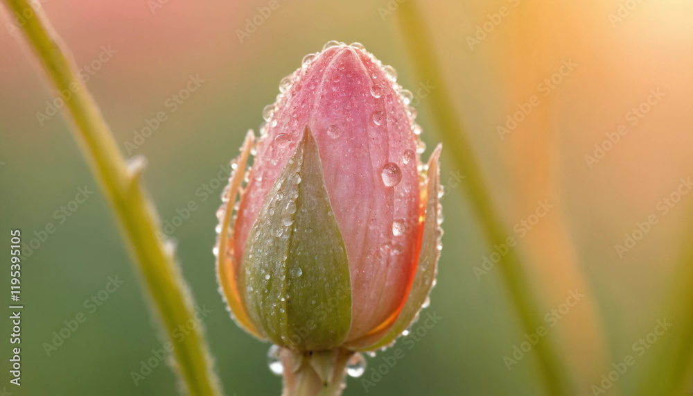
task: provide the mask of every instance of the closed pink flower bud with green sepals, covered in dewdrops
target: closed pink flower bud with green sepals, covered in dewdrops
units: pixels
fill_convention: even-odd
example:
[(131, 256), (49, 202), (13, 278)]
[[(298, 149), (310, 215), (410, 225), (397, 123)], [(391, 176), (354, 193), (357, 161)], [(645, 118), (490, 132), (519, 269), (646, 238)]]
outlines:
[(361, 44), (328, 43), (279, 88), (222, 194), (222, 293), (288, 350), (389, 345), (435, 283), (440, 146), (421, 164), (412, 94)]

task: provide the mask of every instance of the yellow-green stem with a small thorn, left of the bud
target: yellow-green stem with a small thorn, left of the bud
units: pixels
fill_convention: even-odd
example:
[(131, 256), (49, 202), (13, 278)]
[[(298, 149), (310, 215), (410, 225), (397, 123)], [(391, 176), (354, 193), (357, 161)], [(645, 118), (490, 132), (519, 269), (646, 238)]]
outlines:
[[(71, 92), (65, 99), (67, 118), (74, 136), (119, 220), (134, 261), (152, 298), (159, 319), (171, 332), (188, 321), (195, 323), (191, 295), (179, 273), (173, 252), (167, 252), (157, 235), (161, 234), (157, 214), (139, 183), (141, 166), (128, 168), (94, 98), (78, 78), (73, 61), (67, 56), (37, 1), (5, 0), (10, 13), (21, 15), (21, 30), (55, 88)], [(67, 96), (67, 95), (65, 95)], [(133, 164), (136, 165), (136, 164)], [(220, 386), (200, 326), (195, 326), (175, 347), (179, 377), (191, 395), (220, 395)]]

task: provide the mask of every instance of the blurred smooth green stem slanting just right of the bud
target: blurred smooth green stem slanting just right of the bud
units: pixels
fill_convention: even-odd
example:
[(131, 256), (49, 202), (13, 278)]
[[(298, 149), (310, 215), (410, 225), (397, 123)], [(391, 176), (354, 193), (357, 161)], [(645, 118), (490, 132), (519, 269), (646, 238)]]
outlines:
[[(493, 207), (491, 194), (484, 184), (482, 171), (468, 141), (468, 134), (462, 127), (462, 122), (457, 119), (453, 98), (446, 88), (442, 70), (433, 51), (434, 44), (421, 11), (417, 8), (416, 1), (407, 0), (400, 3), (395, 14), (416, 73), (421, 80), (428, 80), (435, 87), (428, 96), (433, 121), (444, 147), (448, 148), (447, 153), (452, 155), (456, 166), (466, 175), (468, 199), (480, 220), (486, 241), (489, 245), (502, 245), (509, 233), (500, 220), (500, 214)], [(509, 250), (498, 265), (523, 331), (533, 334), (544, 322), (517, 250)], [(547, 394), (573, 394), (567, 364), (559, 358), (552, 339), (547, 338), (534, 348)]]

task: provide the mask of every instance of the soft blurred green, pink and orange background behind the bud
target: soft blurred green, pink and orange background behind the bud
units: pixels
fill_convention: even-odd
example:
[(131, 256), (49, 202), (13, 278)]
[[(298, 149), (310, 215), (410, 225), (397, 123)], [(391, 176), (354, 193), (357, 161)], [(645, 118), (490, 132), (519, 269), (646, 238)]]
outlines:
[[(227, 395), (279, 395), (281, 379), (267, 368), (269, 345), (236, 327), (217, 291), (211, 249), (226, 178), (220, 166), (238, 154), (249, 128), (257, 130), (279, 80), (328, 40), (361, 42), (396, 68), (399, 83), (414, 92), (427, 158), (440, 140), (427, 103), (437, 88), (411, 66), (396, 24), (403, 1), (279, 0), (269, 15), (267, 0), (42, 1), (121, 150), (148, 160), (143, 182), (164, 225), (172, 225), (195, 302), (211, 311), (204, 326)], [(693, 3), (441, 0), (419, 7), (493, 204), (528, 263), (542, 314), (555, 318), (545, 319), (548, 332), (579, 393), (593, 394), (591, 386), (629, 354), (635, 364), (605, 392), (635, 393), (645, 370), (680, 341), (665, 307), (692, 235)], [(139, 275), (52, 108), (55, 94), (12, 29), (14, 17), (3, 14), (3, 246), (15, 228), (25, 243), (36, 241), (24, 252), (21, 277), (22, 386), (6, 385), (2, 370), (0, 390), (173, 395), (175, 377), (164, 364), (137, 384), (131, 377), (161, 348)], [(157, 117), (164, 121), (157, 125)], [(511, 365), (504, 359), (527, 338), (498, 268), (475, 271), (495, 250), (480, 234), (454, 151), (444, 147), (444, 250), (424, 311), (441, 319), (432, 329), (414, 325), (411, 342), (398, 341), (404, 357), (374, 386), (362, 382), (372, 381), (370, 370), (350, 378), (345, 395), (542, 391), (532, 350)], [(88, 198), (71, 203), (78, 194)], [(190, 201), (198, 209), (182, 216)], [(642, 225), (652, 218), (651, 227)], [(55, 231), (42, 232), (49, 224)], [(634, 246), (626, 234), (638, 239)], [(117, 289), (107, 285), (115, 277)], [(561, 304), (571, 292), (586, 298), (566, 311)], [(46, 349), (78, 313), (86, 321)], [(639, 355), (633, 343), (665, 318), (674, 330)], [(9, 356), (8, 322), (0, 329), (0, 351)], [(369, 367), (391, 354), (368, 358)]]

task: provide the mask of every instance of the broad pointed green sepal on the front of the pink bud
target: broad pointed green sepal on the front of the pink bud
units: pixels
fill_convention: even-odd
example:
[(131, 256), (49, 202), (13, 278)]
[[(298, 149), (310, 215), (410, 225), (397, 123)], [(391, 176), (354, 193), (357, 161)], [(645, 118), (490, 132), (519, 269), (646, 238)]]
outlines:
[(344, 239), (306, 127), (250, 230), (241, 282), (249, 314), (292, 350), (331, 350), (351, 327)]

